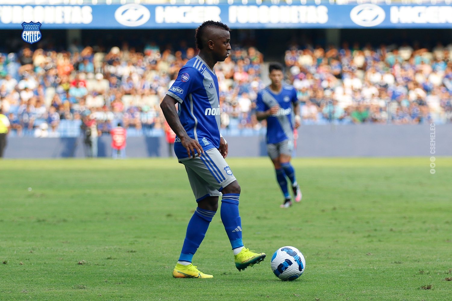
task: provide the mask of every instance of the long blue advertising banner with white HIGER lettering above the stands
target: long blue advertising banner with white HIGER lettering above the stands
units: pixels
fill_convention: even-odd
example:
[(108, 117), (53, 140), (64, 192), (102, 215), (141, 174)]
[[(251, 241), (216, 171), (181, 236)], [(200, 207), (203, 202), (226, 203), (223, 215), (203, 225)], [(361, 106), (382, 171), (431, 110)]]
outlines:
[(452, 28), (451, 5), (0, 5), (0, 28)]

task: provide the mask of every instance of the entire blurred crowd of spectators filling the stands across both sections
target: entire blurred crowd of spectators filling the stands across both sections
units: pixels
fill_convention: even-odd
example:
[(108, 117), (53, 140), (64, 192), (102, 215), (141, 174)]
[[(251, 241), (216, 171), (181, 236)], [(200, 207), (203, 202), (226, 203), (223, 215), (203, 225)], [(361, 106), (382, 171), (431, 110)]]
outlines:
[[(120, 123), (151, 135), (165, 126), (160, 100), (196, 55), (190, 47), (155, 43), (143, 52), (127, 43), (109, 51), (74, 43), (67, 51), (24, 48), (0, 54), (1, 108), (19, 136), (64, 136), (63, 120), (77, 129), (94, 120), (99, 134)], [(452, 120), (452, 45), (292, 46), (284, 59), (304, 124)], [(265, 66), (254, 47), (235, 48), (216, 65), (226, 131), (265, 125), (254, 116), (256, 93), (268, 83)]]

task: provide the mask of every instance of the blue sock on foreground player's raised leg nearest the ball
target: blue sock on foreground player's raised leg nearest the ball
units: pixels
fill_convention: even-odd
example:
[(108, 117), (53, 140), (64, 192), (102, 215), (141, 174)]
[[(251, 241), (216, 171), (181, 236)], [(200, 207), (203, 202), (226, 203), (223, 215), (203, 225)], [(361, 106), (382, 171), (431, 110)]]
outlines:
[(242, 242), (242, 220), (239, 215), (240, 194), (223, 194), (221, 199), (221, 221), (226, 230), (226, 234), (231, 241), (232, 249), (243, 247)]

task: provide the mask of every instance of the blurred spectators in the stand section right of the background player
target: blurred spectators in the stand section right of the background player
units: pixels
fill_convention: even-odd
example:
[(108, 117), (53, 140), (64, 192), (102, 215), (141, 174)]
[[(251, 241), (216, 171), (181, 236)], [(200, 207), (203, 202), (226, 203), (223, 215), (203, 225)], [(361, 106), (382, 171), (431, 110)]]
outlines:
[(305, 124), (452, 121), (452, 44), (298, 48), (285, 63)]

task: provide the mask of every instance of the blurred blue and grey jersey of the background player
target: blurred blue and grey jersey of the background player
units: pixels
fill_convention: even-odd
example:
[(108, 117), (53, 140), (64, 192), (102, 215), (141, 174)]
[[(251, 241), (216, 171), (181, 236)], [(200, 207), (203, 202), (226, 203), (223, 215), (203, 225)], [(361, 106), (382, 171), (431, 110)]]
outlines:
[(267, 118), (267, 144), (293, 140), (292, 104), (295, 105), (297, 102), (297, 90), (291, 85), (283, 84), (279, 94), (275, 94), (270, 87), (259, 91), (256, 99), (256, 111), (264, 112), (275, 105), (279, 106), (278, 113)]

